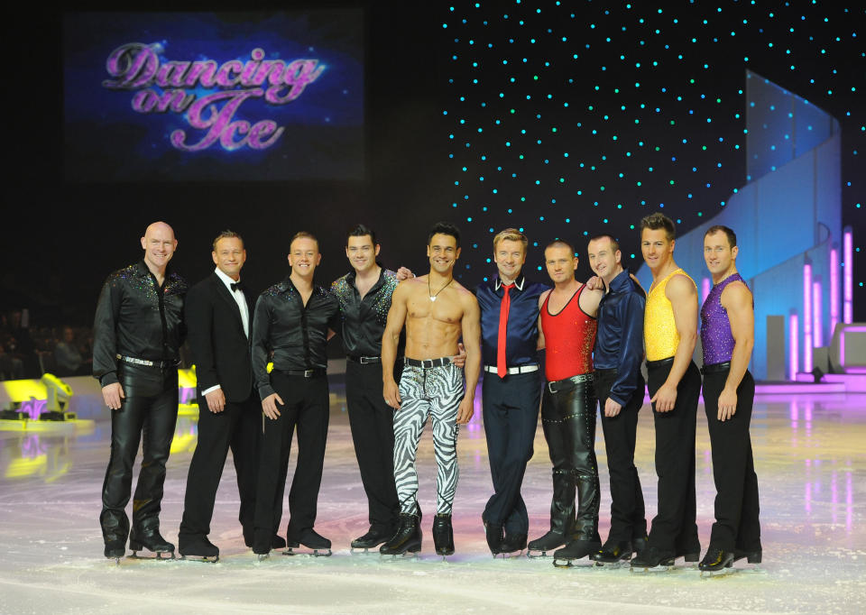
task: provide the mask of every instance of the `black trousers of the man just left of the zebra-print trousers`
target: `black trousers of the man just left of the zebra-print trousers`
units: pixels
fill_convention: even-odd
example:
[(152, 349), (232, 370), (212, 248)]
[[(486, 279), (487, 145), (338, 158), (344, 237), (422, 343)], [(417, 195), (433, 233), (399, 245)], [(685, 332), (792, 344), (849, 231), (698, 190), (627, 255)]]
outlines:
[[(395, 369), (398, 382), (401, 367)], [(382, 399), (382, 363), (346, 360), (345, 403), (370, 527), (396, 529), (400, 500), (394, 483), (394, 410)]]

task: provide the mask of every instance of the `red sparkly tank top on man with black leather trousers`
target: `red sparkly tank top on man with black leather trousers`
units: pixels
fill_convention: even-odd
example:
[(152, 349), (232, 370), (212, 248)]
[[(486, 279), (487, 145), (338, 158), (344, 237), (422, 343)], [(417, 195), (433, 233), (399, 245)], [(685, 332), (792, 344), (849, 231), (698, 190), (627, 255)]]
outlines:
[(549, 294), (541, 306), (548, 382), (593, 371), (596, 320), (580, 308), (580, 293), (585, 288), (586, 285), (577, 289), (557, 315), (548, 312)]

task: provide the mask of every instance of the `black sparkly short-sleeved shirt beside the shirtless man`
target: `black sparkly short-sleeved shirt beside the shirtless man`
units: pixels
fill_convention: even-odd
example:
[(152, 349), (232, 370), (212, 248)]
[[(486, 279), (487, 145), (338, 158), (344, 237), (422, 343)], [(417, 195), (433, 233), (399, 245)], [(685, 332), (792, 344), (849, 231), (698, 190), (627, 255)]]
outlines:
[(355, 271), (331, 284), (331, 293), (340, 304), (343, 350), (351, 356), (380, 356), (382, 335), (391, 309), (391, 297), (398, 284), (394, 271), (382, 268), (379, 280), (364, 298), (355, 286)]

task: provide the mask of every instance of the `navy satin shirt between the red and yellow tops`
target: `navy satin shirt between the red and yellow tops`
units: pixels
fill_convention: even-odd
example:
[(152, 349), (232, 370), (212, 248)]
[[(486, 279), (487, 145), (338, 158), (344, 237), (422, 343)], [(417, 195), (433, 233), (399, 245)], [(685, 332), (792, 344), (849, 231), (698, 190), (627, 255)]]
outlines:
[(646, 303), (643, 289), (624, 270), (611, 280), (611, 288), (598, 304), (593, 363), (596, 370), (616, 369), (610, 397), (622, 406), (640, 382)]

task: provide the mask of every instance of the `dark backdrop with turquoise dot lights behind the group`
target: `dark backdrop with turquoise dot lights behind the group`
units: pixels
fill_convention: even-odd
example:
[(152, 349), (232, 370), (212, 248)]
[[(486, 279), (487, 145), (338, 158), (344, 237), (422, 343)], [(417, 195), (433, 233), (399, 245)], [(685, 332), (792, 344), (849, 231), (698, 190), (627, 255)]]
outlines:
[[(470, 286), (493, 271), (492, 229), (505, 225), (525, 227), (540, 245), (570, 239), (581, 255), (589, 234), (609, 232), (627, 260), (640, 259), (630, 228), (640, 216), (664, 204), (685, 232), (745, 183), (737, 92), (746, 68), (840, 119), (843, 224), (863, 245), (866, 32), (857, 3), (683, 2), (663, 12), (603, 2), (343, 4), (366, 9), (363, 181), (66, 184), (61, 14), (17, 8), (9, 48), (21, 72), (6, 87), (14, 106), (5, 124), (10, 241), (0, 308), (30, 308), (34, 324), (88, 324), (106, 274), (139, 257), (138, 238), (157, 219), (174, 226), (174, 264), (191, 281), (212, 269), (217, 232), (244, 234), (244, 278), (258, 289), (288, 271), (288, 238), (301, 229), (320, 237), (319, 281), (342, 274), (345, 228), (356, 221), (377, 229), (385, 264), (415, 271), (427, 266), (428, 226), (456, 222), (465, 234), (458, 275)], [(243, 8), (296, 5), (304, 6)], [(309, 6), (321, 5), (339, 4)], [(778, 232), (785, 224), (796, 221)], [(857, 252), (860, 320), (863, 263)], [(540, 264), (534, 249), (530, 267)], [(588, 272), (582, 262), (580, 275)]]

